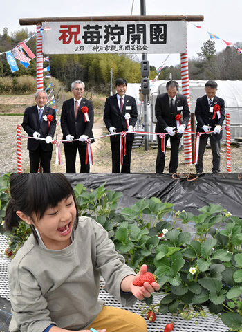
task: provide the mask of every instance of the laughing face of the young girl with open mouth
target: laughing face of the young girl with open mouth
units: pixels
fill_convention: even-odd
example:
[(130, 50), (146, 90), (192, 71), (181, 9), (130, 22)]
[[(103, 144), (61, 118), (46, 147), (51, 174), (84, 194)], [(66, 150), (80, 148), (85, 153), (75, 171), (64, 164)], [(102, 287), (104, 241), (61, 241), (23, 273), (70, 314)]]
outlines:
[(77, 210), (73, 196), (62, 199), (54, 208), (47, 208), (41, 219), (32, 217), (35, 228), (48, 249), (61, 250), (71, 244), (71, 232)]

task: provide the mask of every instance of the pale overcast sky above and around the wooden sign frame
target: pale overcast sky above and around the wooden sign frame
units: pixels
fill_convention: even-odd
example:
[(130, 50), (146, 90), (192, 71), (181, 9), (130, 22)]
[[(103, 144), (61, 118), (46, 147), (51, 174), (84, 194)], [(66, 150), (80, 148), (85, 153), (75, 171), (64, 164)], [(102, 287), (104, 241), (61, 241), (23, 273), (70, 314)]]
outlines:
[[(21, 28), (35, 30), (35, 26), (20, 26), (19, 18), (27, 17), (77, 17), (77, 16), (124, 16), (140, 15), (140, 0), (14, 0), (12, 3), (1, 1), (0, 32), (7, 27), (9, 33)], [(194, 22), (202, 28), (187, 24), (187, 53), (189, 58), (197, 57), (201, 46), (209, 39), (207, 31), (227, 42), (242, 42), (241, 0), (146, 0), (146, 15), (203, 15), (203, 22)], [(221, 39), (212, 39), (216, 50), (223, 50), (226, 45)], [(167, 54), (147, 55), (149, 64), (158, 68)], [(242, 55), (241, 55), (242, 56)], [(180, 63), (180, 55), (172, 54), (167, 66)]]

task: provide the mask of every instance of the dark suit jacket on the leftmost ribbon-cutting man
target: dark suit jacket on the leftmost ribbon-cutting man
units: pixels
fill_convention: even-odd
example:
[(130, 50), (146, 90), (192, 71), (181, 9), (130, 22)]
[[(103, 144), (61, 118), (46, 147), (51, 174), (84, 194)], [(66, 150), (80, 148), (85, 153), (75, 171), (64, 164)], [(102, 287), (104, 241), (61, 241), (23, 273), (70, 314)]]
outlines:
[[(48, 128), (48, 121), (44, 120), (43, 116), (48, 116), (50, 114), (53, 116), (53, 120), (50, 121), (50, 127)], [(24, 131), (28, 133), (28, 136), (33, 136), (33, 133), (37, 131), (40, 133), (40, 138), (46, 138), (47, 136), (51, 136), (54, 138), (55, 135), (55, 127), (56, 127), (56, 117), (55, 117), (55, 109), (51, 107), (44, 106), (42, 118), (39, 120), (39, 111), (37, 106), (28, 107), (24, 112), (24, 120), (22, 123), (22, 127)], [(41, 145), (41, 148), (44, 151), (52, 151), (53, 145), (46, 144), (43, 140), (34, 140), (32, 138), (28, 138), (28, 150), (36, 150)]]

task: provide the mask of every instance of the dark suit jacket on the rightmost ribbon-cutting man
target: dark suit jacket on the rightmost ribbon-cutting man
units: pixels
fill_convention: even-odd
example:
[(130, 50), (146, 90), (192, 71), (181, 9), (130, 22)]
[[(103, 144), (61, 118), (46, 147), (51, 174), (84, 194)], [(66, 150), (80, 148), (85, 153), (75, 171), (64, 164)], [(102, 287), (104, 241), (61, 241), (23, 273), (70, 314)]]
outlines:
[[(196, 132), (204, 133), (204, 130), (202, 129), (204, 125), (211, 126), (211, 130), (214, 130), (216, 124), (222, 126), (223, 121), (225, 119), (224, 100), (215, 95), (214, 100), (212, 102), (212, 106), (214, 106), (215, 104), (218, 104), (220, 106), (221, 118), (218, 119), (218, 114), (216, 113), (214, 120), (212, 120), (213, 113), (210, 112), (210, 107), (208, 106), (208, 101), (207, 101), (207, 95), (203, 95), (203, 97), (198, 98), (196, 100), (195, 116), (198, 122), (196, 127)], [(212, 135), (215, 140), (221, 140), (223, 132), (221, 131), (220, 133), (216, 134), (211, 133), (210, 135)], [(205, 135), (201, 135), (201, 139), (203, 138), (205, 138)]]

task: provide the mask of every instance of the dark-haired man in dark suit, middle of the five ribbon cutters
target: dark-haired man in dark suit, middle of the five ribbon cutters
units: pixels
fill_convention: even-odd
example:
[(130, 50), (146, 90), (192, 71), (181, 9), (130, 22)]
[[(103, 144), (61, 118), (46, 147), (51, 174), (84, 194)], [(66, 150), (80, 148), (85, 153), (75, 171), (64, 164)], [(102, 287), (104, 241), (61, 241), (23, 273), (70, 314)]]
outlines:
[[(131, 95), (125, 95), (127, 80), (118, 78), (115, 81), (117, 93), (106, 98), (104, 122), (110, 133), (126, 131), (126, 155), (123, 154), (122, 173), (130, 173), (131, 151), (134, 134), (133, 127), (137, 121), (136, 100)], [(120, 173), (120, 135), (110, 136), (112, 151), (112, 172)]]

